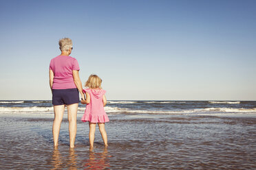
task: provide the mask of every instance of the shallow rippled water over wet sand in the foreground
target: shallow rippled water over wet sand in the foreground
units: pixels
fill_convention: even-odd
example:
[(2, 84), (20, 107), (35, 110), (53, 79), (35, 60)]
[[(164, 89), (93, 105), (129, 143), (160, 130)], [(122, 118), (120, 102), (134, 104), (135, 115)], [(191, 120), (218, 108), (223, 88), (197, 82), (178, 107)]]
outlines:
[(256, 169), (256, 117), (113, 114), (89, 151), (81, 116), (76, 147), (65, 114), (54, 149), (53, 114), (0, 114), (0, 169)]

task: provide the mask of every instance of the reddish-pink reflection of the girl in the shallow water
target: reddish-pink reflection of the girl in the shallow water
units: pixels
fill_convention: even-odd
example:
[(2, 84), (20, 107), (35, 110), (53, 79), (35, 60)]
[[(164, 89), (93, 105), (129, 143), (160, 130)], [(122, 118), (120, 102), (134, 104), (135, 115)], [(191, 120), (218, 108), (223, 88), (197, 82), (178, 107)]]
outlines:
[(109, 167), (107, 148), (103, 149), (102, 153), (96, 153), (93, 150), (89, 151), (89, 159), (85, 160), (87, 169), (106, 169)]

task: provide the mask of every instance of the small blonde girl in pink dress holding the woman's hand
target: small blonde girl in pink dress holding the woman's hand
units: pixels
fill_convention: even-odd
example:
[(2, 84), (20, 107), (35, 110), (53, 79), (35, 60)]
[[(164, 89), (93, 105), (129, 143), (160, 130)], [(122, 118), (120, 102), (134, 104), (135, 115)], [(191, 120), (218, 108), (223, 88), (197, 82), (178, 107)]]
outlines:
[(85, 114), (83, 114), (82, 121), (89, 121), (89, 145), (90, 149), (94, 147), (94, 133), (96, 123), (100, 134), (103, 137), (105, 147), (107, 147), (107, 132), (105, 131), (105, 122), (109, 121), (107, 114), (104, 110), (104, 106), (107, 104), (105, 97), (106, 91), (101, 88), (102, 80), (98, 75), (90, 75), (85, 83), (85, 89), (83, 92), (86, 95), (85, 100), (81, 100), (82, 104), (87, 104)]

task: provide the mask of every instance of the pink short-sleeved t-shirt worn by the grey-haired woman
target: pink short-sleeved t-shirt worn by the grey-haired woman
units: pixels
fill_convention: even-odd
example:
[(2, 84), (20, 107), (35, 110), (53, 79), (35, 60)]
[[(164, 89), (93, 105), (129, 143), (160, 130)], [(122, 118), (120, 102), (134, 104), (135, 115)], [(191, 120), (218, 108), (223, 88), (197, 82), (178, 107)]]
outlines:
[(76, 58), (71, 56), (56, 56), (50, 62), (50, 70), (54, 73), (52, 89), (76, 88), (73, 70), (80, 70)]

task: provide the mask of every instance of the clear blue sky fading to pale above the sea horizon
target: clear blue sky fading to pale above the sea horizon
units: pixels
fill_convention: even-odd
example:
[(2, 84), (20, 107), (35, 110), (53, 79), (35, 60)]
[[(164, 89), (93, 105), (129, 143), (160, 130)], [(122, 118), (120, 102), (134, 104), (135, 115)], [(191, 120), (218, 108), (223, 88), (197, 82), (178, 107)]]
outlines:
[(107, 99), (256, 100), (256, 1), (1, 1), (0, 99), (51, 99), (72, 38)]

